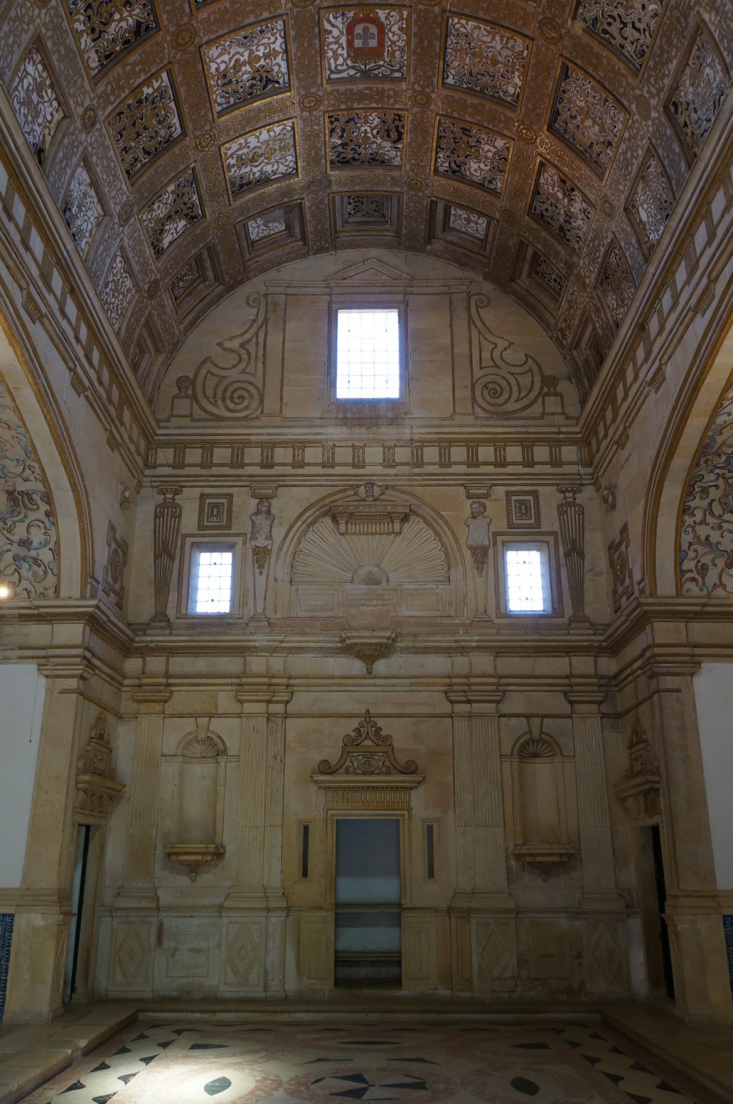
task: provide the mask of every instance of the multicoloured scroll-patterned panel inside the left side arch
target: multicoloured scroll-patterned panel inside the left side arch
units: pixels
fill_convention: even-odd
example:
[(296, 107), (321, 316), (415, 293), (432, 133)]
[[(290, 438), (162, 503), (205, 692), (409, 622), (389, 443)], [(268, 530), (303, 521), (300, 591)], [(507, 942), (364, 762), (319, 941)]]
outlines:
[(0, 486), (0, 581), (17, 597), (55, 597), (59, 554), (51, 492), (1, 380)]

